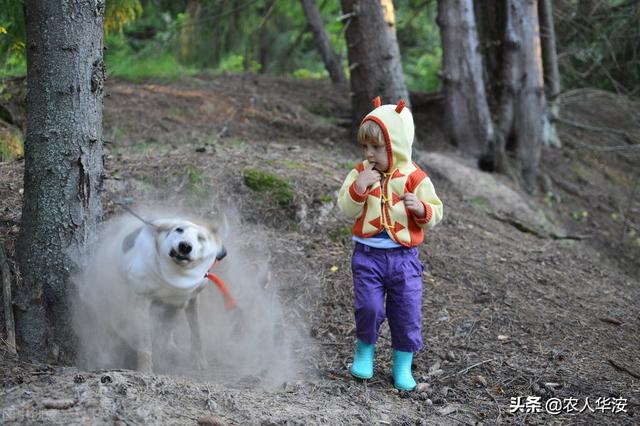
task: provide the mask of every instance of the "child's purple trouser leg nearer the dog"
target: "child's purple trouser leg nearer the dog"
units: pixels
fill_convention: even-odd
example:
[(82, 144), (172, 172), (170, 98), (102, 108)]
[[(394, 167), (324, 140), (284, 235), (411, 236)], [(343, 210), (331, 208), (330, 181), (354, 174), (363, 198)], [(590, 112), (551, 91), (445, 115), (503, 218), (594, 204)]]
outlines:
[(356, 317), (356, 337), (375, 344), (384, 321), (384, 255), (354, 250), (351, 258), (353, 303)]

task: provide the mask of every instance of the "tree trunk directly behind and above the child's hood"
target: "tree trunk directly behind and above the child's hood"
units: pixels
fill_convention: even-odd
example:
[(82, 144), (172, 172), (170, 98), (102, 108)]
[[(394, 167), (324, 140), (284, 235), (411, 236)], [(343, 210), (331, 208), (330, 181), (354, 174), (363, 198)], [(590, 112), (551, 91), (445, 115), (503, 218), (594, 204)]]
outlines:
[(341, 3), (342, 13), (347, 17), (354, 123), (359, 124), (371, 111), (371, 100), (376, 96), (383, 103), (404, 99), (409, 106), (398, 41), (384, 20), (380, 1), (341, 0)]

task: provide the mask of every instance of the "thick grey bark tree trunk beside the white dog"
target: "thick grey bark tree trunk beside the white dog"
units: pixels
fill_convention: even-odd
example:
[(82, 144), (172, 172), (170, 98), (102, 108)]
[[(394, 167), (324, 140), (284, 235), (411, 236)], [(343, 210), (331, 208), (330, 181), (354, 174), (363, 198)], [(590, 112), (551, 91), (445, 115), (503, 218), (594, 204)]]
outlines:
[(22, 354), (74, 353), (70, 276), (101, 215), (103, 0), (26, 0), (27, 134), (18, 239)]

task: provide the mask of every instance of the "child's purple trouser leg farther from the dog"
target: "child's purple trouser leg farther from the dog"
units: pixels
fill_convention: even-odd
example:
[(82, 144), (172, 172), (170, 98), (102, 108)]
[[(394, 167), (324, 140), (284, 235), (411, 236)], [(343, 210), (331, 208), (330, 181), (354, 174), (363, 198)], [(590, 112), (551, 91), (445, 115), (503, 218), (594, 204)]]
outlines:
[(417, 352), (422, 342), (422, 270), (418, 249), (388, 255), (386, 280), (387, 318), (391, 346), (404, 352)]

